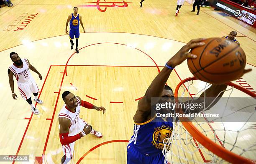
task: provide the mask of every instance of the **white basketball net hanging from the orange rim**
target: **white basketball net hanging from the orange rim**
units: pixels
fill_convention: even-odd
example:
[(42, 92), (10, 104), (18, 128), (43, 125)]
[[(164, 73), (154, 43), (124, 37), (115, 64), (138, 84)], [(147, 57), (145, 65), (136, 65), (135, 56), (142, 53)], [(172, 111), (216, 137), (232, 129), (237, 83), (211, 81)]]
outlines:
[[(194, 80), (199, 81), (199, 80)], [(195, 83), (195, 82), (194, 82)], [(210, 87), (210, 84), (199, 82), (202, 85), (201, 89), (197, 88), (197, 94), (195, 97), (199, 97), (202, 92)], [(195, 89), (192, 87), (193, 81), (189, 81), (185, 83), (183, 87), (181, 85), (179, 89), (179, 96), (184, 97), (184, 95), (190, 92), (190, 89)], [(183, 90), (183, 91), (182, 91)], [(224, 92), (224, 91), (223, 91)], [(228, 86), (225, 91), (225, 97), (232, 97), (232, 95), (238, 94), (239, 97), (249, 97), (244, 92)], [(223, 96), (224, 96), (223, 95)], [(185, 97), (186, 98), (186, 97)], [(189, 95), (187, 98), (191, 98)], [(193, 100), (192, 100), (193, 101)], [(229, 98), (228, 98), (229, 101)], [(182, 102), (182, 100), (179, 100)], [(234, 105), (237, 107), (237, 105)], [(238, 104), (239, 106), (239, 104)], [(215, 106), (213, 106), (215, 107)], [(238, 154), (240, 156), (246, 157), (248, 159), (256, 159), (256, 122), (248, 122), (252, 117), (256, 117), (256, 102), (254, 101), (252, 104), (248, 103), (246, 107), (239, 107), (234, 109), (234, 107), (230, 107), (227, 102), (225, 109), (221, 115), (221, 117), (236, 117), (239, 121), (239, 117), (241, 111), (246, 108), (246, 116), (248, 119), (246, 122), (198, 122), (197, 117), (195, 117), (192, 122), (194, 126), (200, 130), (202, 134), (207, 136), (213, 142), (229, 151)], [(202, 112), (205, 112), (207, 107), (204, 107)], [(231, 110), (231, 112), (230, 112)], [(229, 111), (229, 114), (226, 112)], [(207, 119), (207, 118), (206, 118)], [(175, 119), (174, 119), (175, 120)], [(201, 119), (202, 120), (202, 119)], [(222, 120), (222, 119), (221, 119)], [(210, 152), (208, 149), (202, 146), (200, 142), (197, 142), (191, 134), (184, 128), (182, 122), (173, 122), (173, 132), (172, 137), (164, 139), (164, 149), (163, 154), (165, 157), (165, 164), (201, 164), (201, 163), (228, 163), (227, 161), (221, 159), (214, 153)]]

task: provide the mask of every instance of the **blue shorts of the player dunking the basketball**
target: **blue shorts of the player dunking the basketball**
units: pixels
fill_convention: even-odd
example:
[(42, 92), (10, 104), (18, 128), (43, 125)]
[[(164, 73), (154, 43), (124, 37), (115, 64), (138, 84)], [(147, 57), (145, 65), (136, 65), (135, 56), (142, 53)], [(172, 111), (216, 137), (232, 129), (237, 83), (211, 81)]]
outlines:
[(127, 146), (127, 164), (164, 164), (164, 155), (147, 156), (138, 152), (135, 145), (130, 143)]

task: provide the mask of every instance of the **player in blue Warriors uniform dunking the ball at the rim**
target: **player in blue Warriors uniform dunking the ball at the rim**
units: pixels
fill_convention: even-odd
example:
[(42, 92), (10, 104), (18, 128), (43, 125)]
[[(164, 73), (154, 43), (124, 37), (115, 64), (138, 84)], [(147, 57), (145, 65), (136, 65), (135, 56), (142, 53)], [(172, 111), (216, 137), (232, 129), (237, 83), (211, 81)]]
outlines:
[[(169, 86), (166, 86), (172, 70), (180, 65), (187, 58), (196, 58), (196, 55), (189, 53), (193, 47), (204, 45), (203, 39), (191, 40), (174, 55), (161, 72), (155, 77), (148, 87), (144, 97), (138, 102), (138, 109), (133, 117), (135, 122), (133, 136), (127, 146), (127, 164), (164, 164), (164, 147), (162, 141), (172, 136), (173, 118), (164, 119), (156, 117), (156, 110), (151, 111), (151, 97), (161, 97), (161, 103), (174, 103), (174, 93)], [(213, 85), (206, 89), (207, 97), (216, 97), (220, 91), (225, 90), (227, 85)], [(222, 93), (223, 94), (223, 93)], [(219, 97), (222, 96), (219, 95)], [(204, 98), (204, 93), (201, 97)], [(202, 100), (202, 99), (201, 99)], [(195, 103), (195, 102), (194, 102)], [(205, 102), (205, 106), (211, 102)], [(213, 103), (214, 104), (214, 103)], [(212, 104), (212, 106), (213, 106)], [(153, 116), (151, 115), (153, 113)], [(160, 113), (170, 112), (169, 109), (161, 109)], [(195, 109), (194, 112), (200, 112)]]

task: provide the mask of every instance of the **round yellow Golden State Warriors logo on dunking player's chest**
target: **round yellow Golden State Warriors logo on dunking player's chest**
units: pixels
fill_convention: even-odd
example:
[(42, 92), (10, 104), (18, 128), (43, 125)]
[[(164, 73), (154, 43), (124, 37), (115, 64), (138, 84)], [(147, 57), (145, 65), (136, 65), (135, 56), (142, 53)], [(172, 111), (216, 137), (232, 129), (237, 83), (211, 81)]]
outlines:
[(163, 149), (163, 140), (172, 136), (172, 127), (162, 125), (161, 127), (156, 127), (153, 133), (153, 141), (151, 142), (156, 149)]

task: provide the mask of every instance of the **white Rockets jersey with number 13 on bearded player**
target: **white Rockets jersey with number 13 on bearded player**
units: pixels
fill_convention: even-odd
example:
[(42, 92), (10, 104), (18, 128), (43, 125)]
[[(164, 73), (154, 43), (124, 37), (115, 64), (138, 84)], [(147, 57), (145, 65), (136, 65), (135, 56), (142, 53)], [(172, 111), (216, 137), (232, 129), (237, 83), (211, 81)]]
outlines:
[(9, 67), (18, 83), (26, 82), (32, 77), (28, 67), (28, 60), (21, 59), (21, 61), (23, 62), (22, 68), (18, 68), (13, 64)]

